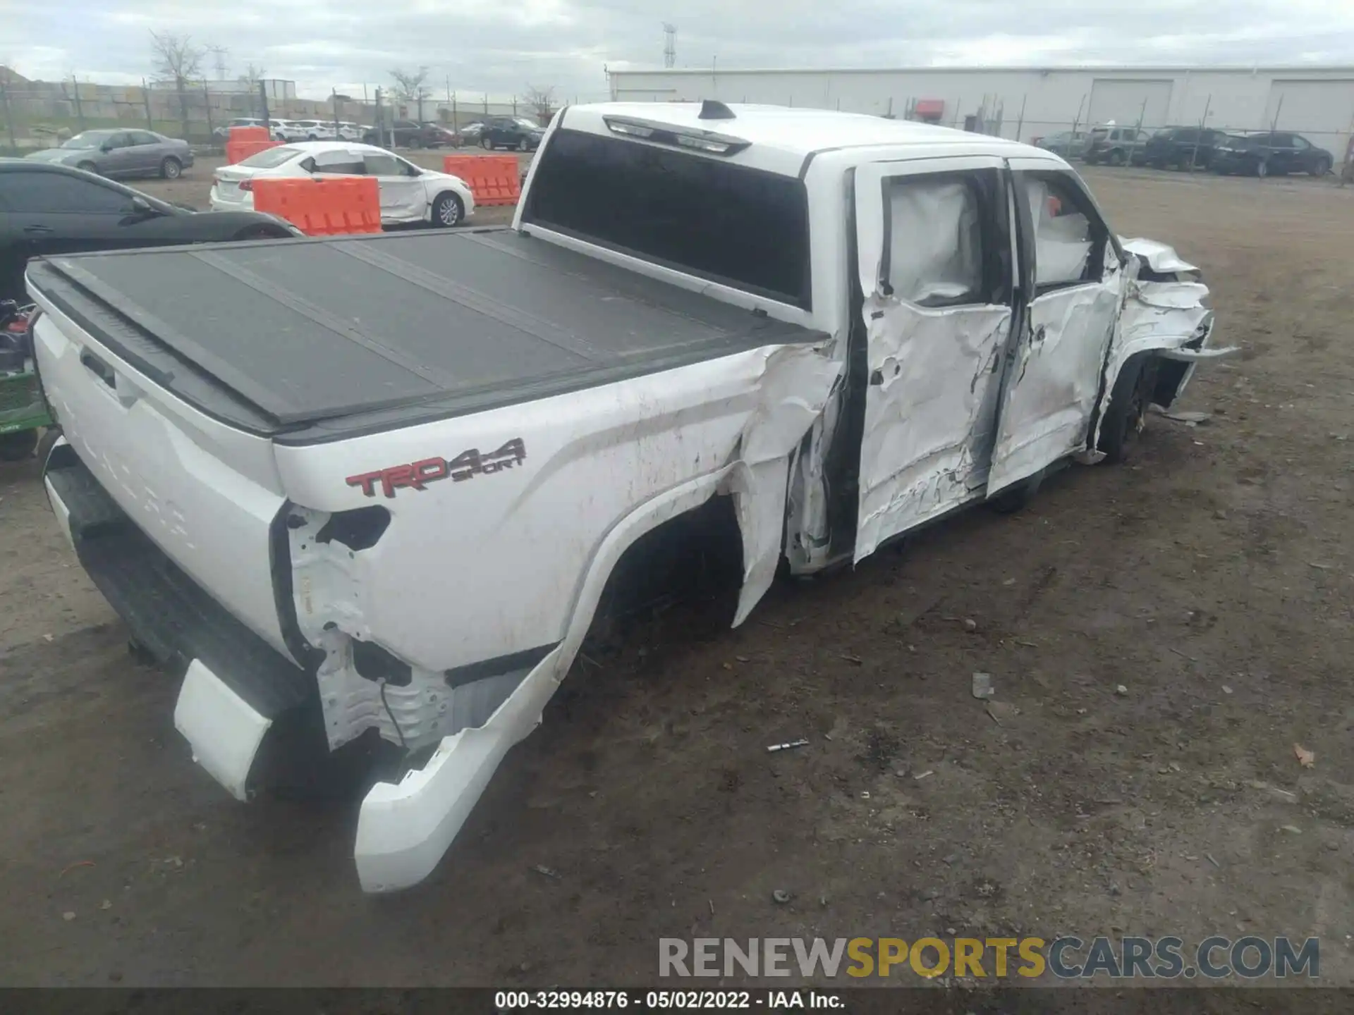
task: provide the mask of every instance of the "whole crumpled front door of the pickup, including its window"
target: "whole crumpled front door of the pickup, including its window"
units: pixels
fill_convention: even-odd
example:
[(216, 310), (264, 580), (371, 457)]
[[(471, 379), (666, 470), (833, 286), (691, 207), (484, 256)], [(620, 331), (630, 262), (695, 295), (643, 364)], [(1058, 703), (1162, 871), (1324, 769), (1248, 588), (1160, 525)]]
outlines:
[(1033, 295), (1010, 344), (987, 493), (1087, 447), (1124, 304), (1125, 260), (1070, 169), (1010, 158), (1021, 291)]

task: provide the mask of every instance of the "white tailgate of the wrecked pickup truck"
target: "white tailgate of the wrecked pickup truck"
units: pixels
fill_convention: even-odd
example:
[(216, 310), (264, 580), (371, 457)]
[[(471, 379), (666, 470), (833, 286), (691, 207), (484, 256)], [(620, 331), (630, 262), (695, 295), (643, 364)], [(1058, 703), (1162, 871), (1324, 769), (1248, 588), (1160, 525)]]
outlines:
[(284, 502), (271, 443), (203, 415), (45, 310), (34, 325), (38, 374), (83, 466), (168, 558), (287, 654), (269, 552)]

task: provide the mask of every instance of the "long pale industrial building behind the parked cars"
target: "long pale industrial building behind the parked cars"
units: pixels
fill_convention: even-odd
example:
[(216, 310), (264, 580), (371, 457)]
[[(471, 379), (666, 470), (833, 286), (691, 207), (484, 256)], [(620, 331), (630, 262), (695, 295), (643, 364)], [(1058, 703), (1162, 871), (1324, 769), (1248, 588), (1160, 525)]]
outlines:
[(1343, 158), (1354, 66), (900, 68), (894, 70), (612, 70), (632, 102), (772, 103), (909, 118), (1032, 141), (1114, 122), (1286, 130)]

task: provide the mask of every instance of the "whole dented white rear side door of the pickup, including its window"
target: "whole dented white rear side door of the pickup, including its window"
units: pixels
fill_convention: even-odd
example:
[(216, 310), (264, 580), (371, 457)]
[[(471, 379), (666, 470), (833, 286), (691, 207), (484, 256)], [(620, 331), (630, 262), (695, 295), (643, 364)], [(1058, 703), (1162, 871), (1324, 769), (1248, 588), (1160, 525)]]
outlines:
[(856, 171), (868, 368), (856, 560), (983, 495), (1011, 326), (1006, 176), (990, 156)]

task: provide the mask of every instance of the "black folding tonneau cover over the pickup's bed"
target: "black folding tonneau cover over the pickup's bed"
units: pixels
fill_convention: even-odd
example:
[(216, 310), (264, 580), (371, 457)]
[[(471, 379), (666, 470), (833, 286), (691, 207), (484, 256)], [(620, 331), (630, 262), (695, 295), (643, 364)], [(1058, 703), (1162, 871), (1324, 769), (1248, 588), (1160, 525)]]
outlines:
[(508, 229), (74, 254), (28, 279), (185, 401), (288, 441), (825, 337)]

